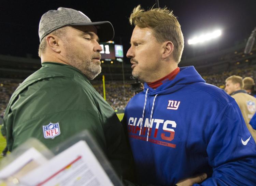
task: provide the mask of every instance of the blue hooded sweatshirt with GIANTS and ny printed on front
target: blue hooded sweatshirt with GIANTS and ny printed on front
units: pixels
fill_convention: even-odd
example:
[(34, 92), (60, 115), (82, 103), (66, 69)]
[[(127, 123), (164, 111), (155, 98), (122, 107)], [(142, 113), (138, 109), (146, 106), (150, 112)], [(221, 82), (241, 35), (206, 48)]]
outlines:
[(193, 66), (155, 90), (144, 86), (123, 119), (139, 183), (173, 185), (206, 172), (200, 185), (256, 185), (256, 144), (232, 97)]

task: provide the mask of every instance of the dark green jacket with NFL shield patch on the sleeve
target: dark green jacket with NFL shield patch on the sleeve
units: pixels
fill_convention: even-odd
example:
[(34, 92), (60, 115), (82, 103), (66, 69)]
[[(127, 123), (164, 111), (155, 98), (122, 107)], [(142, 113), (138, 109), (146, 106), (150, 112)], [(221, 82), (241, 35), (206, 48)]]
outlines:
[[(50, 123), (55, 125), (47, 128)], [(87, 129), (117, 173), (124, 177), (128, 173), (131, 152), (122, 124), (111, 106), (75, 67), (42, 63), (13, 93), (4, 125), (10, 151), (30, 137), (53, 148)]]

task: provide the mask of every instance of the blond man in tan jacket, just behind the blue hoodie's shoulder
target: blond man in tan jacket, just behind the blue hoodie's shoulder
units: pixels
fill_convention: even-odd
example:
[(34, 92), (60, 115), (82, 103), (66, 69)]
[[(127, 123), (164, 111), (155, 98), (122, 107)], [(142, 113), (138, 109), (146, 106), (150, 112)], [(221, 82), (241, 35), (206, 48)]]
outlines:
[(230, 76), (226, 79), (225, 91), (233, 97), (243, 115), (243, 119), (252, 137), (256, 141), (256, 130), (249, 124), (256, 111), (256, 98), (247, 94), (243, 89), (244, 81), (240, 76)]

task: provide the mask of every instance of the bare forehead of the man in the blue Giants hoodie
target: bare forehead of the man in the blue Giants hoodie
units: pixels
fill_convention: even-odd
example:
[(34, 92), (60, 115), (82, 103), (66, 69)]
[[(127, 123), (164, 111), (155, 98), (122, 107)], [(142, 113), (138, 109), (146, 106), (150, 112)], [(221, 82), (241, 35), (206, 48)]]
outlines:
[(132, 36), (131, 36), (131, 41), (133, 40), (146, 40), (146, 39), (152, 39), (155, 38), (153, 35), (153, 30), (151, 28), (140, 28), (136, 26), (133, 29)]

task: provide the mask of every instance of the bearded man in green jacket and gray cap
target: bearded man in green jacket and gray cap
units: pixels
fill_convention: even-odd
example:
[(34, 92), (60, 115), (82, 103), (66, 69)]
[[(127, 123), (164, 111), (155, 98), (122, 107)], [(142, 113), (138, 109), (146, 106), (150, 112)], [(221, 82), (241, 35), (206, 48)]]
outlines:
[(30, 137), (53, 148), (87, 129), (116, 172), (127, 177), (131, 153), (122, 124), (89, 82), (101, 72), (98, 42), (112, 40), (112, 24), (60, 7), (41, 17), (39, 37), (42, 67), (20, 84), (5, 111), (9, 150)]

